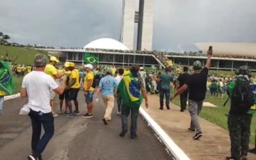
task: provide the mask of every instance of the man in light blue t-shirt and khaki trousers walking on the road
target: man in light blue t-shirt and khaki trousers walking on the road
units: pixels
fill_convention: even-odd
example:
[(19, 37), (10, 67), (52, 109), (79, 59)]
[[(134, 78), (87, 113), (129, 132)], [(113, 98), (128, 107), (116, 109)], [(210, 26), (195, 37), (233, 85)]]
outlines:
[(106, 70), (106, 76), (100, 79), (100, 84), (95, 92), (95, 98), (98, 98), (99, 92), (101, 90), (101, 95), (103, 102), (105, 104), (105, 115), (102, 119), (104, 124), (107, 125), (108, 121), (111, 120), (111, 113), (115, 105), (115, 97), (114, 97), (114, 88), (118, 85), (115, 77), (112, 76), (112, 70)]

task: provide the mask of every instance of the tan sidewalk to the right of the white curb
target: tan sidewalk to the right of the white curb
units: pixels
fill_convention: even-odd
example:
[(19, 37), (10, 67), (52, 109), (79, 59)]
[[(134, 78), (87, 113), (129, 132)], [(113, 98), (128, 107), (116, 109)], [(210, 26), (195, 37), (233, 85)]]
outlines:
[[(192, 160), (216, 160), (225, 159), (230, 156), (230, 139), (228, 131), (200, 118), (200, 125), (204, 135), (200, 140), (193, 140), (195, 133), (188, 132), (190, 115), (188, 110), (180, 112), (179, 106), (171, 104), (171, 109), (159, 110), (159, 97), (148, 95), (149, 108), (146, 109), (144, 102), (143, 109), (147, 111), (172, 140)], [(203, 108), (204, 109), (204, 108)], [(256, 159), (255, 154), (248, 153), (248, 159)]]

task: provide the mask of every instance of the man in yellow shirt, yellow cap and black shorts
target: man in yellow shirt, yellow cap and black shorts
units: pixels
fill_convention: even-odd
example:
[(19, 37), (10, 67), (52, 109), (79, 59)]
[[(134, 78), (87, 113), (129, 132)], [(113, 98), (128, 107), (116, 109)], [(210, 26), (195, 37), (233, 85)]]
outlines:
[[(78, 109), (78, 101), (77, 101), (77, 94), (80, 89), (80, 83), (79, 83), (79, 71), (75, 69), (75, 63), (69, 62), (68, 64), (68, 70), (71, 71), (68, 79), (68, 84), (66, 87), (67, 97), (66, 97), (66, 104), (68, 106), (69, 113), (67, 114), (67, 117), (72, 118), (74, 115), (81, 115)], [(74, 100), (74, 104), (76, 106), (76, 111), (72, 111), (72, 104), (71, 100)]]

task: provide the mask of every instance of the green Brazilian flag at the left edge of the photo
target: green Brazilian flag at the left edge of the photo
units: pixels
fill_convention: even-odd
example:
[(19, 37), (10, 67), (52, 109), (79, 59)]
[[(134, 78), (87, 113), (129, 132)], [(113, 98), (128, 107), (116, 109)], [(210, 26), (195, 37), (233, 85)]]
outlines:
[(0, 61), (0, 90), (8, 94), (13, 93), (15, 79), (10, 70), (10, 63), (6, 61)]

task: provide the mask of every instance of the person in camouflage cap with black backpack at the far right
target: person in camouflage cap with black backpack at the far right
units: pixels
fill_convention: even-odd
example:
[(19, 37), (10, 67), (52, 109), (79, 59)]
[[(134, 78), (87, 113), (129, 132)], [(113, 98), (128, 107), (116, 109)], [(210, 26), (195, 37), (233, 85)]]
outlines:
[[(236, 75), (238, 81), (242, 81), (242, 77), (246, 77), (247, 79), (249, 79), (251, 76), (251, 72), (248, 67), (241, 66), (236, 71)], [(234, 91), (235, 85), (236, 81), (232, 81), (228, 85), (228, 96), (230, 98)], [(231, 105), (228, 114), (228, 131), (231, 141), (231, 157), (227, 157), (227, 159), (247, 159), (246, 156), (249, 150), (251, 121), (251, 113), (236, 113), (236, 111), (234, 111)]]

